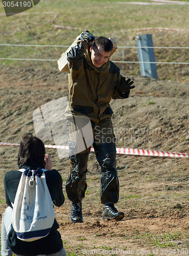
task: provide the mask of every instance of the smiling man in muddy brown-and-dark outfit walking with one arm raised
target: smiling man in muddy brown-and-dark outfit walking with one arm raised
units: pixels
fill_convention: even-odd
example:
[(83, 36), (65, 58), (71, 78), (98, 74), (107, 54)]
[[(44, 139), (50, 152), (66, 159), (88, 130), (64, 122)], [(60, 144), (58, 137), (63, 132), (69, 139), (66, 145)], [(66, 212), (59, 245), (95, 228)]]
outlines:
[(86, 173), (90, 147), (80, 153), (73, 153), (74, 141), (71, 133), (78, 130), (69, 116), (88, 117), (93, 130), (93, 147), (101, 166), (100, 196), (103, 206), (102, 219), (123, 219), (114, 204), (119, 199), (119, 180), (116, 169), (116, 144), (111, 117), (111, 98), (126, 99), (133, 83), (120, 75), (120, 69), (110, 61), (112, 41), (98, 37), (94, 44), (89, 42), (94, 36), (85, 31), (67, 53), (69, 80), (68, 137), (70, 154), (70, 174), (66, 182), (66, 192), (72, 201), (72, 222), (83, 222), (82, 199), (87, 189)]

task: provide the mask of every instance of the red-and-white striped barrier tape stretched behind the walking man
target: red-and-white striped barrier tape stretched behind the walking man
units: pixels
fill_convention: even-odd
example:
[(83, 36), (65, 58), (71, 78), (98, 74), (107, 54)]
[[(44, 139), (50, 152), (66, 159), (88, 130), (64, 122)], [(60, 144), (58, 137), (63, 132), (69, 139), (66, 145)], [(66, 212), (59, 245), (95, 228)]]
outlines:
[[(0, 142), (0, 146), (19, 146), (18, 143), (5, 143)], [(45, 145), (46, 148), (58, 148), (62, 150), (68, 150), (68, 146), (61, 145)], [(94, 152), (94, 148), (91, 147), (91, 151)], [(157, 150), (139, 150), (138, 148), (116, 148), (117, 154), (123, 155), (135, 155), (135, 156), (155, 156), (155, 157), (189, 157), (187, 153), (177, 153), (170, 151), (157, 151)]]

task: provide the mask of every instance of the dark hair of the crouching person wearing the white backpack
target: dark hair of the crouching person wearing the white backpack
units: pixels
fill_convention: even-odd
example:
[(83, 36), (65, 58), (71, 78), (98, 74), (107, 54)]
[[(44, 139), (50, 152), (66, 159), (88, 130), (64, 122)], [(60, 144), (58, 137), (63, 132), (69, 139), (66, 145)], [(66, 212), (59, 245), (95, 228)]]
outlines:
[(32, 161), (45, 165), (45, 146), (43, 142), (31, 133), (23, 135), (18, 151), (18, 166)]

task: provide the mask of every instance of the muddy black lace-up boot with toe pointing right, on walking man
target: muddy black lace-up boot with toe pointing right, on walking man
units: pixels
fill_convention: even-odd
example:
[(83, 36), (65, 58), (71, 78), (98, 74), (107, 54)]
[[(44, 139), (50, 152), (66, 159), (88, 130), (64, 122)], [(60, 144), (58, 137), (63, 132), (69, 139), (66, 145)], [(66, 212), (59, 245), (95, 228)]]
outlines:
[(118, 211), (113, 203), (105, 203), (103, 206), (102, 220), (121, 220), (124, 213)]

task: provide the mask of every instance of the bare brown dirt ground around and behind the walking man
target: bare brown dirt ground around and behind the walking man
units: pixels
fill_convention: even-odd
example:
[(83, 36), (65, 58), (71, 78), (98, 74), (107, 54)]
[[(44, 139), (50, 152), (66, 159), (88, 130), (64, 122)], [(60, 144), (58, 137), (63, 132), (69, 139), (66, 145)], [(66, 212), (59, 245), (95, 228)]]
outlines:
[[(111, 102), (117, 147), (189, 153), (189, 83), (131, 78), (136, 88), (129, 98)], [(0, 91), (0, 141), (19, 143), (26, 132), (35, 135), (35, 109), (68, 95), (67, 74), (1, 66)], [(0, 146), (1, 216), (6, 208), (3, 179), (6, 172), (17, 169), (17, 151), (17, 146)], [(84, 223), (72, 223), (71, 202), (65, 193), (69, 159), (60, 160), (55, 149), (46, 152), (63, 178), (66, 199), (55, 211), (68, 255), (189, 254), (188, 158), (118, 154), (120, 200), (116, 207), (125, 217), (102, 221), (100, 168), (91, 153)]]

